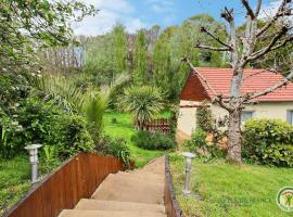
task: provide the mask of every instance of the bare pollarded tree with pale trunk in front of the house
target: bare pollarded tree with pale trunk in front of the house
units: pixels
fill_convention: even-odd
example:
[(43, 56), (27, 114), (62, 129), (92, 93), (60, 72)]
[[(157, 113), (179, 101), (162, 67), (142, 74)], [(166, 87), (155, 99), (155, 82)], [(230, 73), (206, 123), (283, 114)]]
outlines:
[[(286, 77), (272, 87), (266, 88), (259, 92), (252, 92), (247, 94), (241, 93), (241, 87), (243, 85), (243, 71), (249, 67), (250, 64), (256, 60), (263, 59), (267, 54), (276, 51), (280, 48), (288, 46), (293, 41), (292, 23), (288, 22), (288, 17), (292, 17), (292, 1), (281, 0), (280, 7), (277, 12), (269, 18), (269, 21), (262, 27), (257, 26), (259, 20), (259, 13), (262, 9), (262, 0), (257, 0), (256, 9), (254, 10), (247, 0), (240, 0), (241, 4), (246, 11), (245, 17), (245, 30), (240, 31), (234, 22), (233, 10), (225, 10), (221, 13), (221, 17), (226, 20), (229, 25), (229, 41), (224, 41), (217, 35), (217, 33), (211, 31), (203, 26), (201, 31), (218, 43), (218, 46), (204, 44), (202, 41), (198, 41), (195, 48), (204, 49), (207, 51), (229, 52), (230, 66), (233, 68), (233, 75), (230, 82), (230, 94), (221, 95), (215, 92), (212, 88), (215, 98), (214, 101), (218, 103), (222, 108), (229, 113), (229, 126), (228, 126), (228, 155), (227, 158), (233, 162), (241, 163), (241, 111), (243, 104), (251, 102), (260, 95), (268, 94), (276, 89), (288, 85), (293, 78), (293, 66)], [(264, 42), (264, 39), (268, 35), (272, 34), (269, 41), (262, 44), (262, 48), (257, 47), (259, 41)], [(192, 66), (192, 63), (188, 58), (184, 59)], [(194, 72), (198, 73), (199, 72)]]

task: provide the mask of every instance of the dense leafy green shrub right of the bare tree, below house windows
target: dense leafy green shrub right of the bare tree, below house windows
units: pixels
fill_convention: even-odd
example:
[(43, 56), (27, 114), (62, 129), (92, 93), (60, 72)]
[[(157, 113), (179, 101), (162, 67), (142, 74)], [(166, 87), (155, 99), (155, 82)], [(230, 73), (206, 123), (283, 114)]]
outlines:
[(252, 119), (243, 131), (243, 157), (258, 164), (293, 165), (293, 127), (279, 119)]

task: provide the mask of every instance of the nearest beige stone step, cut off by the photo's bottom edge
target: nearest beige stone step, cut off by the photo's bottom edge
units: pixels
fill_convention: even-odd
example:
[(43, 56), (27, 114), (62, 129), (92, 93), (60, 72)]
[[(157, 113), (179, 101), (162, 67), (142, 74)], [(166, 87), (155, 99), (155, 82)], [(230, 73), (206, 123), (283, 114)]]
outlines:
[(63, 209), (59, 217), (167, 217), (154, 212), (114, 212), (114, 210), (77, 210)]

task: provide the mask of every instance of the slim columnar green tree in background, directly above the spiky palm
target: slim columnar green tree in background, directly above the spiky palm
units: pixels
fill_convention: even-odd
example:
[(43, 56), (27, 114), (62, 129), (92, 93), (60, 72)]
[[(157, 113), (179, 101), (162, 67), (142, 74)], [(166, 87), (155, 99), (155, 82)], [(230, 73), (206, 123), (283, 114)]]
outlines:
[(146, 84), (148, 81), (148, 47), (145, 41), (144, 30), (141, 29), (137, 34), (135, 43), (135, 60), (133, 60), (133, 79), (138, 85)]

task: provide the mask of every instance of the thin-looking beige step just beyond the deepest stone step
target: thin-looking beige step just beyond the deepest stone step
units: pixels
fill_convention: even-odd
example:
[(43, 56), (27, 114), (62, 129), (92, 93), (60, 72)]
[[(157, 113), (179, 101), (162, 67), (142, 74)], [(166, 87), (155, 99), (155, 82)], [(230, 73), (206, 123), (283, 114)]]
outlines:
[(125, 173), (125, 171), (119, 171), (115, 176), (117, 177), (129, 177), (133, 179), (142, 180), (142, 181), (150, 181), (154, 183), (164, 183), (164, 177), (157, 176), (156, 174), (151, 174), (151, 173), (145, 173), (145, 171), (139, 171), (137, 170), (136, 173)]

